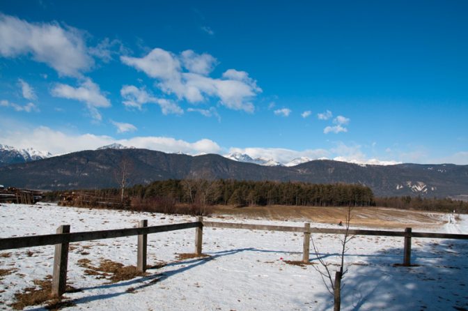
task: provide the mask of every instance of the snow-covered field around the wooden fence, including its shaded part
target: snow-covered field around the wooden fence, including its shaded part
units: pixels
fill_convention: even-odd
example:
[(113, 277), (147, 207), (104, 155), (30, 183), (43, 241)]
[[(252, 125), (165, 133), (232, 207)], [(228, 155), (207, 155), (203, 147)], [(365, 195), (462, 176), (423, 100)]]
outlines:
[[(446, 224), (432, 232), (468, 234), (468, 217), (439, 215)], [(194, 221), (182, 215), (0, 204), (0, 238), (51, 234), (59, 225), (71, 231), (135, 227)], [(213, 221), (302, 226), (233, 218)], [(312, 224), (312, 227), (336, 227)], [(375, 229), (375, 228), (373, 228)], [(79, 259), (99, 266), (102, 259), (136, 265), (137, 237), (70, 244), (68, 284), (82, 289), (67, 293), (70, 310), (330, 310), (331, 295), (313, 266), (293, 266), (302, 259), (302, 234), (241, 229), (203, 229), (203, 253), (208, 259), (178, 261), (177, 253), (194, 252), (195, 229), (150, 234), (148, 276), (109, 284), (86, 275)], [(421, 231), (415, 229), (414, 231)], [(338, 236), (313, 234), (320, 256), (338, 264)], [(10, 253), (10, 254), (8, 254)], [(343, 282), (342, 310), (468, 310), (468, 241), (413, 238), (412, 263), (403, 261), (403, 238), (355, 236), (345, 255), (348, 274)], [(14, 294), (33, 286), (33, 280), (52, 274), (54, 246), (0, 252), (0, 309), (9, 310)], [(311, 254), (311, 261), (315, 255)], [(127, 292), (131, 289), (132, 292)], [(40, 306), (29, 307), (41, 310)]]

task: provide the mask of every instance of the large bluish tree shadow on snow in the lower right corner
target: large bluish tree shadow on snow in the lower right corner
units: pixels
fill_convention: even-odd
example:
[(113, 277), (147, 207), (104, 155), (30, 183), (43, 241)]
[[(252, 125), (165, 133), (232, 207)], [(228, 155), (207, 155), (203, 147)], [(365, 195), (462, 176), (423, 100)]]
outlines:
[[(341, 310), (468, 310), (467, 256), (468, 242), (451, 240), (423, 241), (413, 249), (410, 267), (395, 265), (403, 261), (402, 248), (347, 254)], [(333, 309), (327, 291), (315, 296), (329, 301), (323, 310)]]

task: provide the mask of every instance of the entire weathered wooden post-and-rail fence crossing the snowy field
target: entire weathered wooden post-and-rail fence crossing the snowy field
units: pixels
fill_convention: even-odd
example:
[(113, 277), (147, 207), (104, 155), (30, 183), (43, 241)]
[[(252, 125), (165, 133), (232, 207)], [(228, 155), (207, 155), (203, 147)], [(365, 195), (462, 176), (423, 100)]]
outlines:
[[(65, 292), (68, 266), (68, 245), (73, 242), (100, 240), (104, 238), (119, 238), (123, 236), (138, 236), (137, 243), (137, 268), (146, 271), (146, 249), (148, 234), (158, 232), (169, 232), (174, 230), (196, 228), (195, 231), (195, 254), (201, 255), (203, 243), (203, 227), (226, 228), (226, 229), (249, 229), (267, 230), (279, 232), (302, 232), (304, 234), (303, 257), (304, 262), (309, 262), (311, 234), (346, 234), (346, 229), (314, 228), (310, 223), (304, 227), (286, 227), (276, 225), (250, 225), (234, 222), (210, 222), (198, 217), (196, 222), (183, 222), (173, 225), (159, 225), (148, 227), (148, 220), (141, 220), (139, 227), (126, 229), (111, 229), (92, 232), (70, 232), (70, 225), (61, 225), (56, 234), (41, 236), (22, 236), (14, 238), (0, 238), (0, 250), (15, 248), (30, 248), (41, 245), (55, 245), (54, 273), (52, 277), (52, 295), (61, 296)], [(401, 236), (404, 238), (403, 266), (411, 265), (411, 239), (412, 238), (453, 238), (468, 240), (468, 234), (438, 234), (426, 232), (412, 232), (406, 228), (405, 232), (349, 229), (350, 235), (362, 236)]]

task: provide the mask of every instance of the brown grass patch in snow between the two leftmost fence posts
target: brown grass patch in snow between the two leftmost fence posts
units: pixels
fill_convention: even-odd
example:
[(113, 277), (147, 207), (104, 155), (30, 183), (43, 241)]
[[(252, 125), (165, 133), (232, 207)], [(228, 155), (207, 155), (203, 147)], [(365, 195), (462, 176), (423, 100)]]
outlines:
[(91, 260), (83, 258), (78, 260), (78, 265), (86, 268), (84, 274), (95, 275), (98, 279), (107, 279), (111, 283), (132, 280), (137, 276), (148, 275), (138, 271), (136, 266), (124, 266), (120, 262), (103, 259), (98, 267), (91, 265)]

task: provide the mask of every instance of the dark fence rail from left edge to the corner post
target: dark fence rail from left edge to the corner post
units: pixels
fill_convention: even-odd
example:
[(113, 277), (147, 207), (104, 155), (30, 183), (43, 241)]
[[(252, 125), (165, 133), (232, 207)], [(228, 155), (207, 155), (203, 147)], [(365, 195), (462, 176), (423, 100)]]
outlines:
[(55, 245), (82, 241), (101, 240), (104, 238), (120, 238), (123, 236), (137, 236), (139, 234), (153, 234), (181, 229), (200, 227), (201, 222), (183, 222), (173, 225), (160, 225), (152, 227), (138, 227), (125, 229), (111, 229), (89, 232), (72, 232), (64, 234), (45, 234), (41, 236), (21, 236), (14, 238), (0, 238), (0, 250), (15, 248), (30, 248), (33, 246)]

